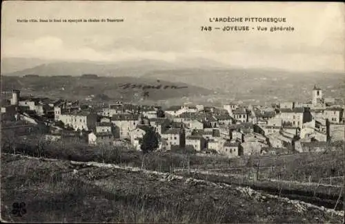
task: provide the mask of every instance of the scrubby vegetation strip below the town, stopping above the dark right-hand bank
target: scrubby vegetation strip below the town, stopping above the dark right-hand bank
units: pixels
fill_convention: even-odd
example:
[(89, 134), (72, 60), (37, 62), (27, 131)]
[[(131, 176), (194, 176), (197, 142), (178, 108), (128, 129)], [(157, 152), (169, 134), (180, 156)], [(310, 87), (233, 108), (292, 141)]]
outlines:
[[(4, 135), (3, 135), (4, 136)], [(144, 155), (128, 144), (119, 146), (99, 145), (90, 147), (82, 140), (68, 139), (48, 142), (41, 136), (28, 136), (25, 140), (2, 139), (2, 151), (23, 153), (30, 156), (59, 158), (81, 162), (107, 162), (155, 171), (170, 171), (176, 168), (217, 171), (222, 174), (239, 174), (257, 179), (286, 180), (308, 183), (342, 185), (344, 176), (344, 150), (324, 153), (295, 153), (281, 156), (246, 156), (224, 158), (219, 155), (199, 156), (188, 151), (155, 151)], [(333, 183), (332, 183), (333, 181)]]

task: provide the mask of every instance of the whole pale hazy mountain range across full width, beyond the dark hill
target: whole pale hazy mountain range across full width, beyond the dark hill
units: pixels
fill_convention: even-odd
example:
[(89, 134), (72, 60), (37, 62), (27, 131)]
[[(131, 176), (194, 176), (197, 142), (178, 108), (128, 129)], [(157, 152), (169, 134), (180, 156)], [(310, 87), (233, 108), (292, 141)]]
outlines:
[[(18, 70), (19, 68), (23, 69)], [(14, 71), (16, 69), (17, 71)], [(6, 73), (6, 71), (13, 72)], [(328, 97), (342, 97), (345, 93), (345, 74), (292, 73), (277, 69), (230, 68), (204, 58), (178, 59), (175, 62), (143, 59), (113, 63), (12, 58), (1, 60), (1, 74), (8, 76), (71, 75), (72, 77), (96, 74), (105, 77), (164, 80), (172, 84), (178, 82), (188, 86), (199, 86), (201, 88), (198, 91), (193, 88), (197, 91), (195, 94), (207, 92), (213, 94), (210, 97), (217, 95), (224, 100), (235, 98), (261, 102), (306, 101), (311, 99), (311, 89), (314, 84), (323, 88)], [(189, 94), (191, 93), (188, 92), (187, 95)]]

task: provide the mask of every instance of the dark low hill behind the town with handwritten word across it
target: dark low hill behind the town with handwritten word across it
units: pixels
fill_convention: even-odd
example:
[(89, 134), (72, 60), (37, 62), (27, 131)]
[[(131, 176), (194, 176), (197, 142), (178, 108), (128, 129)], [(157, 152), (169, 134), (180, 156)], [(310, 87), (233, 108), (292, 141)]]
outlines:
[[(135, 84), (135, 88), (133, 87)], [(139, 86), (142, 85), (142, 86)], [(157, 88), (143, 89), (145, 85)], [(126, 87), (128, 86), (128, 87)], [(159, 88), (159, 86), (161, 86)], [(166, 88), (166, 86), (168, 86)], [(172, 86), (172, 87), (171, 87)], [(175, 88), (175, 87), (176, 88)], [(184, 88), (180, 88), (184, 87)], [(170, 98), (208, 95), (212, 91), (182, 82), (166, 82), (144, 77), (9, 77), (3, 76), (1, 90), (17, 88), (25, 94), (37, 96), (82, 100), (90, 95), (107, 95), (110, 100), (139, 102), (148, 91), (147, 100), (168, 100)]]

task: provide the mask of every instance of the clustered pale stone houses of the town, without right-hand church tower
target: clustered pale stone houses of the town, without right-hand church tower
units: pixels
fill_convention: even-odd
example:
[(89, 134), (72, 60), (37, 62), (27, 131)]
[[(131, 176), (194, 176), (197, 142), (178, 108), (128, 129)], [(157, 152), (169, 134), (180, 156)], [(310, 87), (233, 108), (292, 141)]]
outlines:
[(42, 110), (37, 106), (48, 106), (46, 111), (53, 109), (55, 122), (87, 136), (89, 144), (126, 140), (139, 149), (152, 128), (161, 137), (160, 149), (211, 150), (229, 157), (270, 151), (268, 147), (298, 151), (296, 146), (304, 145), (301, 142), (327, 142), (332, 136), (330, 124), (341, 123), (344, 111), (334, 106), (311, 109), (294, 102), (264, 107), (232, 103), (222, 108), (184, 104), (164, 111), (159, 106), (117, 102), (92, 109), (82, 108), (79, 102), (19, 97), (13, 91), (10, 105), (2, 106), (1, 114), (17, 113), (23, 105), (39, 115)]

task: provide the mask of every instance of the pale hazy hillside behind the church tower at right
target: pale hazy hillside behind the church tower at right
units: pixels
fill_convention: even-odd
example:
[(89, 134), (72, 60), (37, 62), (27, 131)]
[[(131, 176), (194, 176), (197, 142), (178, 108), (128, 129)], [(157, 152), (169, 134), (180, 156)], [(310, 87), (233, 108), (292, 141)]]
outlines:
[(292, 73), (273, 69), (180, 69), (150, 71), (143, 77), (161, 80), (179, 80), (216, 91), (217, 97), (227, 100), (252, 100), (277, 102), (311, 100), (311, 90), (316, 84), (324, 90), (325, 97), (343, 97), (345, 74)]

